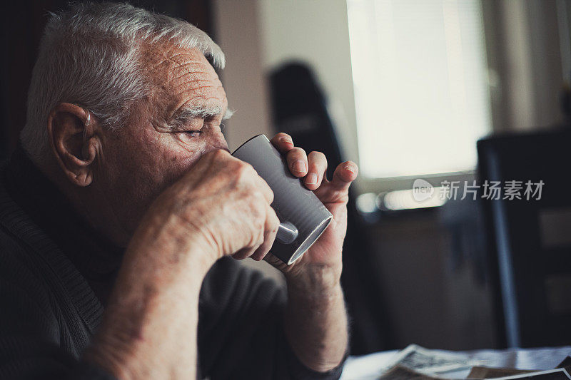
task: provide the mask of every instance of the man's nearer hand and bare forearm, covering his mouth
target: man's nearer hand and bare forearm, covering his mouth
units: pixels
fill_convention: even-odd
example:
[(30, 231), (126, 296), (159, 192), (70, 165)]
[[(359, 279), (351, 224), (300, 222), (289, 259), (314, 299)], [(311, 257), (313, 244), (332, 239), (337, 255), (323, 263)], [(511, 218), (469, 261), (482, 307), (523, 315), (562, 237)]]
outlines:
[(196, 378), (203, 278), (223, 255), (266, 255), (279, 225), (272, 201), (251, 165), (226, 150), (203, 155), (137, 228), (86, 359), (121, 379)]

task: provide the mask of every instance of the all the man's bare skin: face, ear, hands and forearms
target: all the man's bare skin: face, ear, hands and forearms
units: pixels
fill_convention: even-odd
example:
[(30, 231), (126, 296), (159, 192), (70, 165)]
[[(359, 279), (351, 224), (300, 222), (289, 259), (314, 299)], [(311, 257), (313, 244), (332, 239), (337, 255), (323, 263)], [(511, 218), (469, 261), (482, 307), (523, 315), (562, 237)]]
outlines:
[[(323, 153), (306, 154), (283, 133), (271, 140), (333, 214), (310, 250), (284, 265), (268, 254), (279, 223), (273, 192), (228, 153), (221, 133), (228, 101), (212, 66), (196, 50), (168, 45), (148, 46), (143, 57), (151, 91), (121, 129), (102, 128), (69, 103), (56, 106), (47, 125), (54, 160), (44, 171), (91, 225), (126, 247), (86, 359), (124, 379), (193, 378), (196, 367), (179, 364), (196, 358), (201, 282), (232, 255), (282, 270), (293, 351), (315, 371), (337, 366), (348, 342), (341, 248), (356, 165), (340, 164), (327, 180)], [(193, 107), (220, 112), (173, 123)]]

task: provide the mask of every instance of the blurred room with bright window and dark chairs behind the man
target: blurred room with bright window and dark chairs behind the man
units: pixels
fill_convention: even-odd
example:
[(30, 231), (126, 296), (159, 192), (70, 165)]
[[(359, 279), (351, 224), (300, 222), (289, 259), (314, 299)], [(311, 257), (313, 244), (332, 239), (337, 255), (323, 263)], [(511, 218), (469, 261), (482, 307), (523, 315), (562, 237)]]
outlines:
[[(352, 354), (571, 344), (571, 0), (130, 2), (223, 48), (231, 150), (284, 131), (330, 168), (358, 163), (342, 279)], [(4, 158), (47, 14), (65, 4), (4, 12)], [(419, 178), (460, 194), (485, 180), (545, 188), (536, 202), (417, 202)]]

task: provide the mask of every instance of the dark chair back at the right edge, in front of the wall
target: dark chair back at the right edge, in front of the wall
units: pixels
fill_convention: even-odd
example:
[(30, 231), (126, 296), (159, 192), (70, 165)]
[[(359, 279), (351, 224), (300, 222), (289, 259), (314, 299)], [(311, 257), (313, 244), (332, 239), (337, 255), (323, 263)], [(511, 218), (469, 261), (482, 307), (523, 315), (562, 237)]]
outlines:
[[(571, 130), (495, 136), (477, 150), (480, 185), (502, 185), (500, 199), (481, 198), (499, 344), (570, 344)], [(509, 199), (512, 180), (522, 199)], [(542, 181), (540, 199), (525, 194), (527, 181)]]

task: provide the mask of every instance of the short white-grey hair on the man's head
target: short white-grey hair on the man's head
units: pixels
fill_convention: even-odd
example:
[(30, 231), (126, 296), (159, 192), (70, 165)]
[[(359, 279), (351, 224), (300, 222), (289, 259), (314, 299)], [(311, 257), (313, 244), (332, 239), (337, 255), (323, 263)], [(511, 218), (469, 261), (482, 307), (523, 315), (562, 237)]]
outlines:
[(51, 14), (32, 71), (26, 125), (20, 140), (38, 165), (49, 155), (46, 123), (61, 102), (83, 106), (107, 128), (120, 128), (128, 106), (143, 98), (149, 79), (141, 67), (143, 44), (196, 48), (223, 68), (221, 48), (186, 21), (128, 4), (70, 4)]

